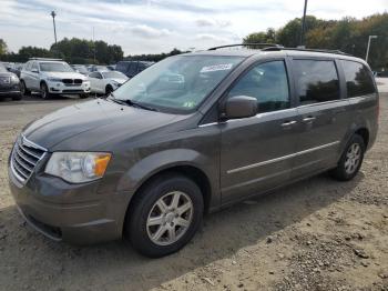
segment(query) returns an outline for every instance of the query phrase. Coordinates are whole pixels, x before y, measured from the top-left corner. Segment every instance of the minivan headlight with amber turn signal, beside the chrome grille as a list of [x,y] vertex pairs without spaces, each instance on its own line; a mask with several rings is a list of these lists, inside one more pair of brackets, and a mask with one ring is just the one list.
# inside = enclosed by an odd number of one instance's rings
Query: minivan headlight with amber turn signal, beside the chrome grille
[[44,172],[71,183],[83,183],[102,178],[110,160],[111,153],[106,152],[54,152]]

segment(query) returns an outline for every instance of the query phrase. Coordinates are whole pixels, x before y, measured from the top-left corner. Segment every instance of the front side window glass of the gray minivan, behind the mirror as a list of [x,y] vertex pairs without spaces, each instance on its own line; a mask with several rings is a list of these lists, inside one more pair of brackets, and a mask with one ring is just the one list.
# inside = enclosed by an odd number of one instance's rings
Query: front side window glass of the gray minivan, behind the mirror
[[258,112],[289,108],[288,78],[284,61],[261,63],[252,68],[229,91],[228,97],[234,96],[256,98]]

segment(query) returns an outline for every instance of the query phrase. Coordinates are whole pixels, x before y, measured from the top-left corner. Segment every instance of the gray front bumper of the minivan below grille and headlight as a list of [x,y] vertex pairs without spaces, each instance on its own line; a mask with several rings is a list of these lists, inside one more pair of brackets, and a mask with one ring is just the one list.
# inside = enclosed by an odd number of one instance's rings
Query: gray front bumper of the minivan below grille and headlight
[[10,167],[8,170],[9,185],[19,211],[45,237],[74,244],[122,237],[127,205],[125,194],[99,194],[98,182],[74,185],[44,174],[33,174],[22,184]]

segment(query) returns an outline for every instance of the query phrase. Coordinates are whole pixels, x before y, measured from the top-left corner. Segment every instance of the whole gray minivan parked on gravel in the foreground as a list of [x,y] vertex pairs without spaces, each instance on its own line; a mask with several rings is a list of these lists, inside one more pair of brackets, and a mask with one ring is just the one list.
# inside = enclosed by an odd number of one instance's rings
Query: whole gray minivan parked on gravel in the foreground
[[20,213],[53,240],[125,237],[162,257],[204,213],[324,171],[353,179],[377,128],[378,92],[358,58],[213,49],[30,123],[9,181]]

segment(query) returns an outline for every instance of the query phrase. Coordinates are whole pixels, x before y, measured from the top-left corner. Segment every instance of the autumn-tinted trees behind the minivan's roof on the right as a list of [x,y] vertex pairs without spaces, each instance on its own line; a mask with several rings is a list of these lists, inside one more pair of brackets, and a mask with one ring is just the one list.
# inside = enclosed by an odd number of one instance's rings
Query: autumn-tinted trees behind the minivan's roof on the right
[[[278,43],[295,48],[300,44],[302,19],[295,18],[283,28],[246,36],[244,43]],[[388,13],[374,14],[361,20],[344,18],[324,20],[306,17],[305,46],[308,49],[340,50],[365,59],[369,36],[371,40],[368,62],[374,70],[388,70]]]

